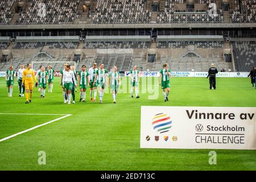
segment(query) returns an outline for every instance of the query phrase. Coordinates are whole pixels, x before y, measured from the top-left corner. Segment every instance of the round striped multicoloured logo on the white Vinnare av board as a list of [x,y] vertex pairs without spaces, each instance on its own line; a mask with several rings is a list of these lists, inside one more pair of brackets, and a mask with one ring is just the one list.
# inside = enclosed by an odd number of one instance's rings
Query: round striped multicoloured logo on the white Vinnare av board
[[172,127],[171,117],[167,114],[156,114],[152,119],[152,126],[156,133],[166,133]]

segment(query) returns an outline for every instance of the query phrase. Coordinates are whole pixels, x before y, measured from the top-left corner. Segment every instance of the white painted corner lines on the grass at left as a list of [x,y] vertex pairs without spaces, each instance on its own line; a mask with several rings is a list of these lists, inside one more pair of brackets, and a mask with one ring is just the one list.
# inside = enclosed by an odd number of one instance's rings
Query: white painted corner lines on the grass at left
[[[12,113],[0,113],[0,114],[12,114]],[[27,114],[27,115],[32,115],[32,114]],[[38,125],[38,126],[35,126],[35,127],[31,127],[31,129],[27,129],[27,130],[21,131],[21,132],[19,132],[19,133],[13,134],[13,135],[11,135],[11,136],[9,136],[9,137],[0,139],[0,142],[3,142],[3,141],[5,141],[5,140],[7,140],[7,139],[10,139],[10,138],[14,138],[14,137],[16,137],[16,136],[18,136],[18,135],[21,135],[21,134],[23,134],[23,133],[27,133],[28,131],[35,130],[35,129],[41,127],[41,126],[48,125],[48,124],[53,123],[53,122],[55,122],[55,121],[59,121],[60,119],[67,118],[67,117],[71,116],[72,114],[35,114],[35,115],[64,115],[64,116],[63,116],[63,117],[60,117],[60,118],[57,118],[57,119],[53,119],[52,121],[43,123],[42,125]]]

